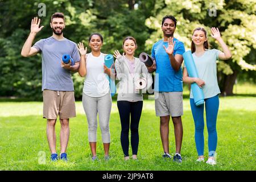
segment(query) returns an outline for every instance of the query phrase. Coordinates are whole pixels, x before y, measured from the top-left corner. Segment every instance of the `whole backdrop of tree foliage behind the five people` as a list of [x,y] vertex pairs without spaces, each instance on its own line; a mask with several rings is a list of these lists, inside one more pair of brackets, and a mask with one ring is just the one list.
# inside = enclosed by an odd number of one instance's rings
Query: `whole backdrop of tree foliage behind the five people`
[[[218,62],[219,78],[233,74],[238,78],[256,77],[255,66],[255,1],[224,0],[36,0],[0,1],[0,96],[18,96],[42,99],[42,65],[40,55],[24,58],[20,56],[22,46],[30,32],[31,19],[38,16],[39,3],[46,5],[46,16],[41,17],[42,31],[36,35],[35,42],[52,35],[49,20],[57,11],[65,14],[64,36],[73,42],[84,42],[88,47],[88,37],[92,32],[104,36],[102,52],[122,52],[123,38],[134,36],[141,52],[151,52],[152,44],[162,39],[160,23],[166,14],[177,18],[175,37],[190,48],[194,28],[203,26],[221,31],[222,38],[230,47],[231,60]],[[138,8],[133,9],[137,3]],[[17,6],[18,5],[18,6]],[[217,16],[209,16],[212,5],[217,8]],[[220,48],[209,37],[213,48]],[[90,50],[89,50],[90,51]],[[82,95],[84,78],[73,74],[76,98]],[[224,80],[220,80],[225,84]],[[223,87],[223,86],[221,86]]]

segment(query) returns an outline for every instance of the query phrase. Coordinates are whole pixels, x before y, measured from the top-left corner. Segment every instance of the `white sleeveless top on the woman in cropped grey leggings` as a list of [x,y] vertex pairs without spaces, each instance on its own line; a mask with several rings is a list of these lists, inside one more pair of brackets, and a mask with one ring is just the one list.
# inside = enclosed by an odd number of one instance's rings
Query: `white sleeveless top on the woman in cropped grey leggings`
[[104,73],[104,53],[98,57],[92,53],[87,55],[83,92],[90,97],[102,97],[109,93],[108,75]]

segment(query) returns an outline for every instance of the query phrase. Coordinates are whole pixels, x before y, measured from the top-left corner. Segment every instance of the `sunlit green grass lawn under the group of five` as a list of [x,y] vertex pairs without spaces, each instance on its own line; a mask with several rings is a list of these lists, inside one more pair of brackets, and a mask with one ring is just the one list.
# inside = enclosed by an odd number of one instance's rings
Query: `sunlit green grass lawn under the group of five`
[[[109,162],[98,129],[97,155],[92,162],[87,137],[87,122],[81,101],[76,102],[77,117],[71,119],[68,145],[69,161],[50,162],[46,138],[46,119],[42,118],[42,102],[0,102],[0,170],[255,170],[256,97],[220,97],[217,120],[217,165],[196,163],[197,152],[194,124],[188,98],[184,98],[183,163],[162,158],[159,118],[155,116],[154,101],[146,100],[139,125],[139,160],[123,160],[120,143],[121,125],[117,102],[113,101],[110,118]],[[60,123],[56,134],[59,139]],[[205,156],[208,155],[208,134],[205,127]],[[57,151],[59,152],[59,140]],[[131,150],[130,150],[131,151]],[[174,126],[170,123],[170,152],[175,152]],[[131,152],[130,152],[131,153]],[[42,163],[46,155],[46,163]]]

